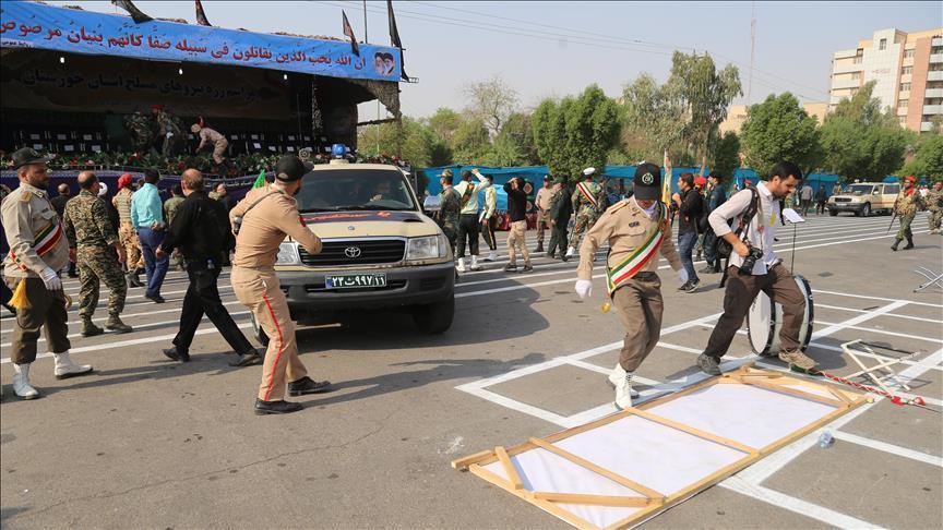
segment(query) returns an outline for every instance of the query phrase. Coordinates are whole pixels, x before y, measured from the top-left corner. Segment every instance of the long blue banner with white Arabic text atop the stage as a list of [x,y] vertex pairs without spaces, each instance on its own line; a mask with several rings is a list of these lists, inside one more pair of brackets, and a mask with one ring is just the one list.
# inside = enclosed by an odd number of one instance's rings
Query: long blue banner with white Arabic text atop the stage
[[[259,3],[260,9],[262,3]],[[311,7],[311,9],[315,9]],[[266,35],[56,8],[36,2],[0,4],[0,47],[40,48],[155,61],[265,68],[331,77],[397,81],[399,53],[387,46]]]

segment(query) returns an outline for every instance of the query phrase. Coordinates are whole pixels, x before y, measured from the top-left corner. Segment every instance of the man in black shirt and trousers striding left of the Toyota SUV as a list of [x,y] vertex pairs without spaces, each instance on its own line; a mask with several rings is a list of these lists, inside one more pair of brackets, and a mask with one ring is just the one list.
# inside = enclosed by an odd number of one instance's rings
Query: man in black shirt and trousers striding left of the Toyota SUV
[[190,344],[205,312],[239,356],[229,364],[248,366],[262,358],[232,322],[216,288],[219,269],[223,267],[223,255],[229,252],[234,242],[226,206],[203,192],[203,174],[200,171],[183,171],[180,183],[187,198],[177,209],[174,222],[156,253],[157,257],[162,258],[179,248],[183,254],[190,287],[183,298],[180,330],[174,337],[174,348],[164,350],[164,354],[175,361],[190,360]]

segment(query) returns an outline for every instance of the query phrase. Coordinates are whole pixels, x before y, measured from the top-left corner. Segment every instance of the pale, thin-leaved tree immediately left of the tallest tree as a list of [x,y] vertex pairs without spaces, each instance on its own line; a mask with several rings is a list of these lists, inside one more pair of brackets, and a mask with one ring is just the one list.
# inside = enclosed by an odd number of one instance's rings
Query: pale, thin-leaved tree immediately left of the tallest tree
[[[684,108],[668,86],[643,73],[622,92],[622,148],[637,160],[676,159],[684,134]],[[637,161],[636,160],[636,161]]]

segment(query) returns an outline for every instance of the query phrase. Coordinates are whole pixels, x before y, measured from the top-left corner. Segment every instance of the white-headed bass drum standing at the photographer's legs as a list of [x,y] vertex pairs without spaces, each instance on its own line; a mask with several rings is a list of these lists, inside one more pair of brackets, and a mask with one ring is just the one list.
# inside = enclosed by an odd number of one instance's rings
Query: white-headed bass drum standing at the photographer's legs
[[[812,302],[812,288],[809,281],[800,275],[792,277],[799,286],[799,292],[805,299],[805,312],[802,315],[802,326],[799,328],[799,347],[802,351],[809,347],[812,339],[812,324],[815,308]],[[775,305],[775,308],[773,308]],[[783,305],[773,304],[765,292],[760,292],[750,305],[747,314],[747,335],[750,347],[761,357],[779,354],[779,329],[783,327]]]

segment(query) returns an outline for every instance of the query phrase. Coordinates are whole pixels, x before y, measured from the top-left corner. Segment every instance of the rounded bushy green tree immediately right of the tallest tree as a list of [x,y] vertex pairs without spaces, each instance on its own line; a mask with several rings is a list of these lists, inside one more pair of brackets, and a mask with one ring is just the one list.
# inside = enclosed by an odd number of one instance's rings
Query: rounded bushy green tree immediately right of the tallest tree
[[769,95],[765,101],[747,109],[740,131],[740,146],[747,164],[765,176],[773,166],[789,160],[808,172],[822,159],[817,120],[786,92]]

